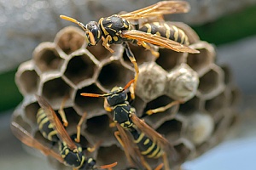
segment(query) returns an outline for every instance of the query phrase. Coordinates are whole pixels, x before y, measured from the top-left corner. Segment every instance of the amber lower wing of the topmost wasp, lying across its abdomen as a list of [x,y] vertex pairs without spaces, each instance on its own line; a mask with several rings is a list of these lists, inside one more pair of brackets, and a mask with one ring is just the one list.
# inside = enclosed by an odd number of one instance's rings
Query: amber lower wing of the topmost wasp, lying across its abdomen
[[158,45],[163,48],[169,48],[177,52],[197,54],[200,53],[194,48],[183,45],[179,42],[172,41],[166,37],[161,37],[155,34],[146,33],[143,31],[131,30],[123,31],[121,37],[128,39],[136,39],[138,42],[148,42],[154,45]]

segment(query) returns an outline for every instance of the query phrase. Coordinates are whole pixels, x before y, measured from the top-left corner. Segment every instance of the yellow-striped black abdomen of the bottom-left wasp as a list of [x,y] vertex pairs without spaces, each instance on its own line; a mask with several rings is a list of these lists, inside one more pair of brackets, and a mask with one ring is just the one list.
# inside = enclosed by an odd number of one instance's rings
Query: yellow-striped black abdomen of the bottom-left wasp
[[57,132],[53,129],[53,125],[49,122],[49,118],[46,116],[42,108],[38,109],[37,122],[38,129],[45,139],[49,139],[49,141],[53,142],[59,141]]

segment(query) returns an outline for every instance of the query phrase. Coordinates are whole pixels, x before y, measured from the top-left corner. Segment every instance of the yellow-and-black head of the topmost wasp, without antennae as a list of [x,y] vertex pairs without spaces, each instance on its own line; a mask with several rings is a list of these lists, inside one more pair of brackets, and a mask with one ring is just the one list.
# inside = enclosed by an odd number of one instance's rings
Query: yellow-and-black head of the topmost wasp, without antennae
[[90,21],[86,26],[86,41],[88,46],[94,46],[102,38],[102,33],[96,21]]

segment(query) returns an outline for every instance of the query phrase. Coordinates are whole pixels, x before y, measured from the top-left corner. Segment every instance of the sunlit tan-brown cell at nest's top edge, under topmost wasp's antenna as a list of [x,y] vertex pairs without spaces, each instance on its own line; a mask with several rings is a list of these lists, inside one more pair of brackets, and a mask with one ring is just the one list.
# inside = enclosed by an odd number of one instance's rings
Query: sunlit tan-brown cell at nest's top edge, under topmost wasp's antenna
[[54,41],[66,54],[82,48],[84,44],[84,31],[75,26],[67,26],[59,31]]

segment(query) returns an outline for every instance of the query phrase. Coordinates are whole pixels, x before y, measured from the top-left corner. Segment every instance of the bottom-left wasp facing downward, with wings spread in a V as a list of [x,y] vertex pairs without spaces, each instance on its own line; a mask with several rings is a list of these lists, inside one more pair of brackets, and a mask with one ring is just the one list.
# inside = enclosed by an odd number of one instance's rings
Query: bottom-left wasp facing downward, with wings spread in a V
[[[45,156],[52,156],[61,163],[73,167],[73,170],[78,169],[111,169],[116,166],[117,162],[114,162],[109,165],[104,165],[100,167],[95,167],[96,161],[89,157],[84,156],[84,149],[79,144],[80,137],[77,136],[75,139],[78,142],[73,142],[73,139],[68,135],[66,129],[63,127],[58,116],[56,116],[55,111],[49,105],[49,103],[41,96],[37,96],[38,103],[41,106],[38,112],[39,116],[43,119],[41,122],[42,128],[40,132],[43,132],[43,136],[46,135],[49,141],[58,142],[60,153],[56,153],[55,150],[51,150],[48,147],[41,144],[37,139],[34,139],[30,133],[28,133],[23,127],[20,127],[16,122],[11,123],[11,129],[15,136],[20,139],[20,141],[32,148],[41,150]],[[79,126],[82,124],[86,117],[86,114],[81,117]],[[38,119],[41,119],[38,117]],[[39,124],[40,126],[40,124]],[[47,128],[48,127],[48,128]],[[78,128],[79,129],[79,128]],[[79,135],[79,134],[78,134]],[[95,146],[96,147],[96,146]],[[87,148],[89,151],[94,151],[94,148]]]

